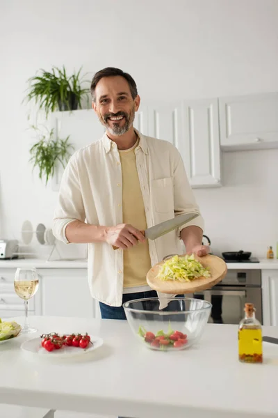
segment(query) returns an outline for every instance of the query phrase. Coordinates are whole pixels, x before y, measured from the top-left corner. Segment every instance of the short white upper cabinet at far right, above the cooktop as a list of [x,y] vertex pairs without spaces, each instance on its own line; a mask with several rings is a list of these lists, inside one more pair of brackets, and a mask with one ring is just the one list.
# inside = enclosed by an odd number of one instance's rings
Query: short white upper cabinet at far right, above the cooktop
[[219,115],[224,150],[278,147],[278,93],[220,98]]

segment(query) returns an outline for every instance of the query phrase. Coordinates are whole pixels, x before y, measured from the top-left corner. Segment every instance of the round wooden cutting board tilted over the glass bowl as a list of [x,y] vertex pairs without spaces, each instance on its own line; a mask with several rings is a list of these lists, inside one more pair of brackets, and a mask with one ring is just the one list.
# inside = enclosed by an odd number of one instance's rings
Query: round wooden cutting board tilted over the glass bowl
[[222,258],[207,255],[204,257],[195,256],[195,259],[202,263],[204,267],[209,268],[211,277],[199,277],[193,281],[184,282],[174,280],[162,281],[156,277],[160,266],[164,263],[164,261],[161,261],[161,263],[154,265],[147,273],[147,284],[154,289],[154,291],[171,295],[182,295],[183,293],[195,293],[197,291],[210,289],[226,276],[227,265]]

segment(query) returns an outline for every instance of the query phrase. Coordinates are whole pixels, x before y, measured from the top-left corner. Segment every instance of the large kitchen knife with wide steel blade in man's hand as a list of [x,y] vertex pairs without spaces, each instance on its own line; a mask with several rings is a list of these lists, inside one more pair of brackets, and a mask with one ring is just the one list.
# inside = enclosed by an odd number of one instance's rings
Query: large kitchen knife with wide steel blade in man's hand
[[[165,235],[165,233],[174,231],[174,229],[179,228],[179,226],[183,224],[187,224],[188,222],[195,219],[195,217],[197,216],[199,216],[199,213],[196,213],[196,212],[183,213],[183,215],[177,215],[172,219],[169,219],[167,221],[161,222],[160,224],[151,226],[151,228],[145,229],[145,231],[140,231],[140,232],[148,240],[156,240],[156,238],[159,238],[162,235]],[[118,247],[115,247],[113,245],[113,249],[117,249],[117,248]]]

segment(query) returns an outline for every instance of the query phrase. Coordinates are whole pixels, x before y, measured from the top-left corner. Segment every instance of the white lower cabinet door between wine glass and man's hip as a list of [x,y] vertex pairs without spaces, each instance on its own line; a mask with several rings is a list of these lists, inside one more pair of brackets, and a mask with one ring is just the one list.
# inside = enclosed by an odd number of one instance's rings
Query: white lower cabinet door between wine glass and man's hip
[[39,272],[42,315],[95,316],[86,269],[43,269]]

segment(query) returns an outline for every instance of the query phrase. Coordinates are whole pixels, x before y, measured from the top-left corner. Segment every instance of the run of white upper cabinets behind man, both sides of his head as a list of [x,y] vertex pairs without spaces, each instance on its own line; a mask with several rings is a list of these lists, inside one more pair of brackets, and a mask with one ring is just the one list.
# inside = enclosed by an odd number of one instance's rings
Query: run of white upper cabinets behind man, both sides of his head
[[[56,137],[70,135],[75,150],[98,141],[104,134],[92,110],[55,112],[50,127]],[[170,141],[177,147],[192,187],[220,186],[218,100],[190,100],[140,106],[134,127],[142,134]],[[58,190],[63,167],[57,167],[52,189]]]

